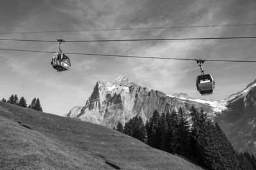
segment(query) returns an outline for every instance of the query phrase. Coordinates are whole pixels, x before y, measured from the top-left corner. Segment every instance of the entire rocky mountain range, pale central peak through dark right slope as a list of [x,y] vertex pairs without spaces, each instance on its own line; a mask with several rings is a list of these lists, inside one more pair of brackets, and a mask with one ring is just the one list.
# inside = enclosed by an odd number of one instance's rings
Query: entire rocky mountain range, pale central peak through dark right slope
[[256,80],[244,90],[221,101],[193,99],[187,94],[166,95],[158,90],[148,90],[119,76],[113,81],[98,81],[84,106],[76,106],[67,117],[76,117],[94,124],[115,127],[140,115],[145,122],[154,110],[166,113],[179,106],[189,113],[192,105],[205,112],[220,124],[228,139],[239,151],[256,153]]

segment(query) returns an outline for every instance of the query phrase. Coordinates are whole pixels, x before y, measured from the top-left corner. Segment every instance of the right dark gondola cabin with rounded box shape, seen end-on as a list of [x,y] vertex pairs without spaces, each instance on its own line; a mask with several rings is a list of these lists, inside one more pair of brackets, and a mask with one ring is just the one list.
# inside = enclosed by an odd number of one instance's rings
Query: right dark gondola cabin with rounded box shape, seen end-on
[[214,89],[214,80],[211,74],[204,74],[197,76],[196,78],[196,87],[198,92],[202,95],[212,94]]

